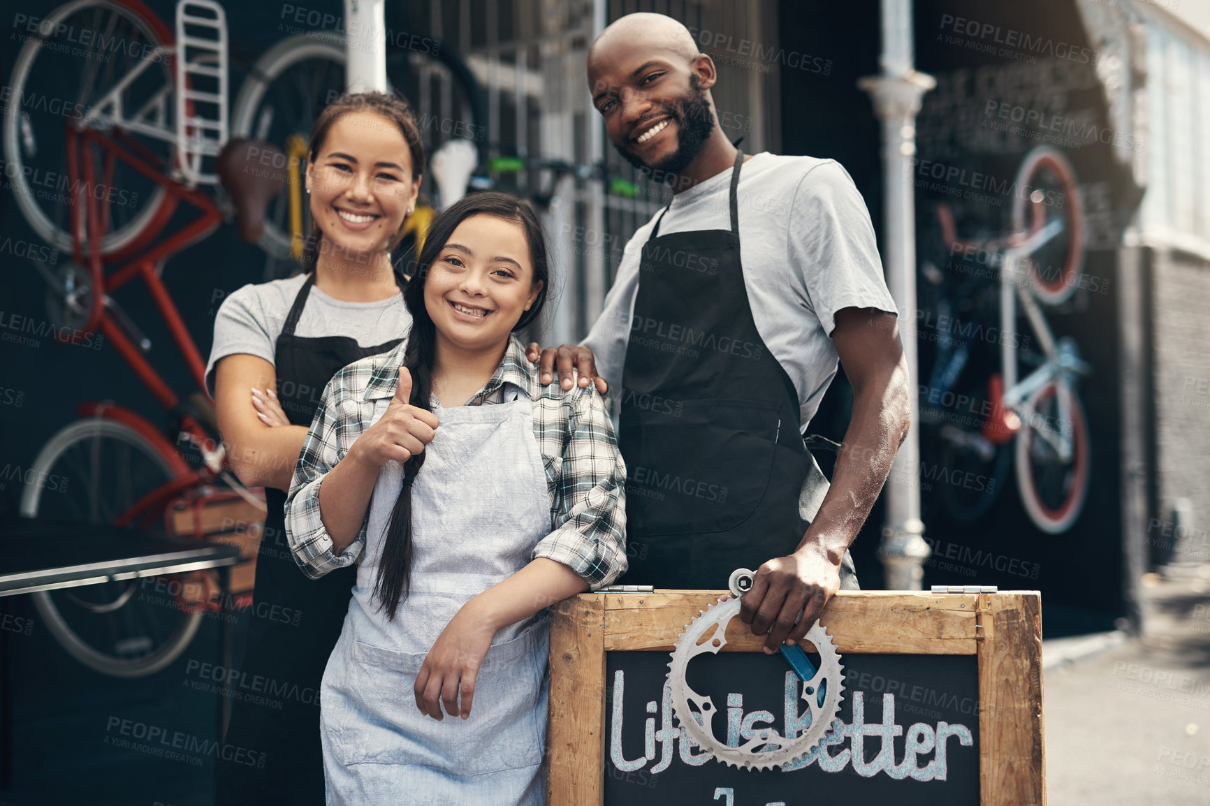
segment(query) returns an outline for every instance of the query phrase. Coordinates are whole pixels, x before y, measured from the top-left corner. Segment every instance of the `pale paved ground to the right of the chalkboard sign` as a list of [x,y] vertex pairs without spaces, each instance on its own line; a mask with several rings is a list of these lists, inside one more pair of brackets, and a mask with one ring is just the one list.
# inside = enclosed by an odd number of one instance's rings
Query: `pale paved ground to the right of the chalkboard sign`
[[1044,641],[1049,806],[1210,805],[1210,578],[1145,582],[1142,638]]

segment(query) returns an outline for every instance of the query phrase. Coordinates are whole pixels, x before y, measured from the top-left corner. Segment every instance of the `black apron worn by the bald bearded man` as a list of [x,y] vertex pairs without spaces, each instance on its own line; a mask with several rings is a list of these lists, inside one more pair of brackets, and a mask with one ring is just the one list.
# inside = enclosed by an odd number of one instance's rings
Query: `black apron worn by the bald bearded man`
[[[799,395],[756,330],[731,229],[659,235],[639,263],[622,370],[629,570],[620,582],[726,588],[737,568],[791,553],[828,479],[803,444]],[[790,293],[790,289],[784,289]],[[858,587],[848,552],[841,587]]]

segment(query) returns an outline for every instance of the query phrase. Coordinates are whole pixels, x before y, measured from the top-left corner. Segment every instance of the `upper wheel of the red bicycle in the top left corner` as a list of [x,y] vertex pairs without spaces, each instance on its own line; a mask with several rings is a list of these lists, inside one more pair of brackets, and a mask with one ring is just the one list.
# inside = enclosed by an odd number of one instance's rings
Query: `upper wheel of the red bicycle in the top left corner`
[[[5,174],[25,220],[60,252],[71,251],[73,198],[104,201],[108,226],[100,251],[115,253],[138,238],[157,214],[162,219],[171,211],[161,208],[174,202],[159,183],[110,157],[98,161],[94,175],[77,175],[73,186],[68,129],[79,127],[106,93],[138,69],[142,73],[120,93],[125,114],[154,106],[157,98],[171,108],[172,62],[156,48],[172,47],[172,34],[139,0],[76,0],[30,24],[38,33],[23,28],[16,34],[23,45],[4,105]],[[163,123],[168,125],[167,117]],[[100,120],[92,125],[108,127]],[[139,137],[137,143],[144,156],[162,166],[172,163],[171,143],[154,137]],[[86,205],[76,203],[81,232],[85,213]]]

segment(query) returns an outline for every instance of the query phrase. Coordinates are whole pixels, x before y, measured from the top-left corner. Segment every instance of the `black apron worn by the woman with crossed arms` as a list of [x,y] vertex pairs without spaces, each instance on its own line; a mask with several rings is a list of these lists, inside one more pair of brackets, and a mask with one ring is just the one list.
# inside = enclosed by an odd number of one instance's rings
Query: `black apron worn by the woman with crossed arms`
[[[324,386],[341,367],[402,341],[362,347],[350,336],[294,335],[313,284],[312,272],[294,298],[273,352],[282,410],[290,425],[304,427],[310,427]],[[219,755],[215,802],[323,806],[319,681],[340,638],[357,566],[318,580],[304,575],[286,540],[286,494],[266,488],[265,502],[269,512],[257,558],[254,603],[243,616],[249,621],[248,649],[240,683],[232,686],[241,697],[232,703],[224,741],[246,752],[232,752],[230,760]],[[273,704],[258,703],[258,697]],[[263,767],[248,762],[249,752],[264,754]]]

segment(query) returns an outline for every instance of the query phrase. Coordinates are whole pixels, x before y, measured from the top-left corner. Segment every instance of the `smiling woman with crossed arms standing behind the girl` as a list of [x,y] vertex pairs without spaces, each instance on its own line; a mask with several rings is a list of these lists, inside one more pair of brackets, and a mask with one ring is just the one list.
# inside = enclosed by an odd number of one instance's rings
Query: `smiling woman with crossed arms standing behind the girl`
[[286,542],[284,491],[328,380],[397,346],[410,327],[391,253],[424,166],[420,131],[402,98],[359,93],[329,104],[307,148],[315,229],[304,274],[240,288],[214,323],[207,384],[227,455],[244,484],[266,488],[255,601],[299,614],[298,623],[258,617],[269,608],[248,616],[241,673],[289,693],[280,708],[232,702],[225,741],[264,753],[264,766],[220,759],[219,804],[323,802],[318,690],[355,576],[350,569],[315,582],[299,572]]

